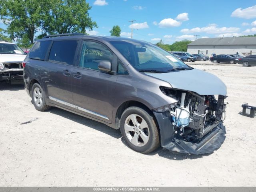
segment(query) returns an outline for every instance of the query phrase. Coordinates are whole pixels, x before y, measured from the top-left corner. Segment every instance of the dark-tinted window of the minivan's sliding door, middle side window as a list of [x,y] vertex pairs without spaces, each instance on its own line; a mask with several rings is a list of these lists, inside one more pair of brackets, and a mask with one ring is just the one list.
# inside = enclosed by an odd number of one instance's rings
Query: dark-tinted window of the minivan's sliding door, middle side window
[[48,60],[50,62],[72,65],[77,45],[78,41],[76,40],[53,42]]

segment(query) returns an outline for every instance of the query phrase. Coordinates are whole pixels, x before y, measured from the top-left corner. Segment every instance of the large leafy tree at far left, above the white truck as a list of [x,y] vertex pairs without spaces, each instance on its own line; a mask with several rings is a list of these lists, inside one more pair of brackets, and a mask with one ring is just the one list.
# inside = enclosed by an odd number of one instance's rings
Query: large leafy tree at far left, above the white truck
[[[24,38],[27,43],[34,43],[34,34],[49,12],[50,0],[1,0],[0,15],[6,32],[12,40]],[[24,41],[22,40],[22,41]]]

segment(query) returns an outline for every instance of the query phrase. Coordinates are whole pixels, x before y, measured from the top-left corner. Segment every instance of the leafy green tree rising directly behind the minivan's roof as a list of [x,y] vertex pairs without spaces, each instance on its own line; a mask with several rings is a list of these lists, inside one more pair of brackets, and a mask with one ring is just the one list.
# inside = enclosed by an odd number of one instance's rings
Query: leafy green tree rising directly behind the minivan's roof
[[89,17],[91,7],[85,0],[54,0],[45,15],[42,29],[47,34],[86,33],[97,27]]

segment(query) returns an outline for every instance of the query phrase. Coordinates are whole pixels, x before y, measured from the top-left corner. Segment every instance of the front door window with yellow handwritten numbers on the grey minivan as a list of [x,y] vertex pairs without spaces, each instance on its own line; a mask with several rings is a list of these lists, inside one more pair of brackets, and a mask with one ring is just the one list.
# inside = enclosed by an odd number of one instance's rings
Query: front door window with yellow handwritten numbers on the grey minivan
[[84,67],[93,70],[98,69],[100,61],[112,62],[113,54],[108,48],[94,41],[84,41],[80,56],[79,67]]

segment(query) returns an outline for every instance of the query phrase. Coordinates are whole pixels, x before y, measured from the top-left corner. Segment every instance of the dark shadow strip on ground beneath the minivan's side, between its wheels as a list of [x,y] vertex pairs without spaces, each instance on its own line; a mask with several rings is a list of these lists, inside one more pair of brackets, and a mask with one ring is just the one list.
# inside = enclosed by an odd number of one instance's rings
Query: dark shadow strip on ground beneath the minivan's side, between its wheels
[[53,113],[53,114],[56,114],[56,115],[59,115],[59,116],[62,116],[64,118],[68,118],[68,119],[70,119],[74,122],[77,122],[77,123],[82,124],[84,126],[88,126],[88,127],[93,128],[97,131],[101,131],[101,132],[103,132],[105,134],[108,134],[109,136],[112,136],[116,139],[119,139],[119,138],[122,137],[120,130],[113,129],[113,128],[111,128],[111,127],[109,127],[109,126],[107,126],[103,123],[100,123],[100,122],[91,120],[89,118],[74,114],[72,112],[68,112],[66,110],[62,110],[62,109],[57,108],[57,107],[52,107],[49,110],[49,112]]

